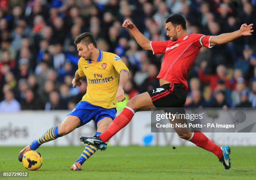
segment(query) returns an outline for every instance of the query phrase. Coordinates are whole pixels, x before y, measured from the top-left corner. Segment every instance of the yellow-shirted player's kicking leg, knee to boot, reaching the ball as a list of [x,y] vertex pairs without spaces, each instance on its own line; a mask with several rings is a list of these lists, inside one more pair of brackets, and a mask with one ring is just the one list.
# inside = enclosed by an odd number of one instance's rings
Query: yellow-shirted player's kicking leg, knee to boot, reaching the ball
[[41,135],[40,138],[34,140],[28,146],[23,148],[18,156],[18,160],[22,162],[23,155],[30,150],[36,150],[43,143],[49,142],[51,140],[55,140],[63,135],[67,135],[72,132],[75,128],[77,128],[80,124],[79,117],[69,115],[66,119],[61,122],[58,126],[54,126],[46,130],[46,132]]

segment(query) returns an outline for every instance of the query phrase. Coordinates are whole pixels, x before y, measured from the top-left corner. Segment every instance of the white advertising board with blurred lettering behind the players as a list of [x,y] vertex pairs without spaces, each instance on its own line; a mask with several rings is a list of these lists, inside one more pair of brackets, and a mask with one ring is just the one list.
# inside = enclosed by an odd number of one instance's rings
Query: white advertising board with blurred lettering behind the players
[[[0,146],[28,145],[47,129],[58,125],[67,111],[23,111],[0,113]],[[69,135],[45,145],[82,145],[80,136],[92,136],[96,132],[94,122],[77,128]],[[205,133],[218,145],[256,145],[256,133]],[[109,145],[193,145],[182,140],[176,133],[151,133],[151,112],[136,112],[133,120],[111,138]]]

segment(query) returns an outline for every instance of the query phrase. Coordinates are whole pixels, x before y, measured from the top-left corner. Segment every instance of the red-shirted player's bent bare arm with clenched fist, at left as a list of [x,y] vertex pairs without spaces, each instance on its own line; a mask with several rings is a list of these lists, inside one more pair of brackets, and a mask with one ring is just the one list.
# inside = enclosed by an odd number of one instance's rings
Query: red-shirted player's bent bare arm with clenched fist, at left
[[131,30],[131,33],[133,34],[135,40],[138,42],[138,44],[144,49],[144,50],[151,50],[150,46],[150,40],[146,38],[136,27],[136,25],[133,24],[133,22],[129,19],[125,20],[123,22],[123,28],[128,28]]

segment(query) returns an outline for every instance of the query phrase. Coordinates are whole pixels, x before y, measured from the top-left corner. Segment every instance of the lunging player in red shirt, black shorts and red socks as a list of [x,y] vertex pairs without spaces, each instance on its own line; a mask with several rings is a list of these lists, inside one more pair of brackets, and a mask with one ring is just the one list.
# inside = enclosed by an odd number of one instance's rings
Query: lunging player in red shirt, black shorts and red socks
[[[84,143],[97,145],[101,150],[106,149],[106,142],[127,125],[138,110],[148,110],[155,107],[184,107],[187,96],[187,71],[194,62],[201,47],[213,47],[230,42],[241,36],[252,35],[253,24],[241,25],[237,31],[217,36],[202,34],[187,34],[186,21],[182,15],[174,14],[166,20],[166,35],[170,40],[150,41],[131,22],[125,20],[123,28],[131,30],[138,44],[145,50],[152,50],[153,54],[163,54],[164,60],[157,78],[160,87],[133,97],[126,107],[111,123],[108,129],[99,136],[91,138],[81,137]],[[230,148],[219,147],[201,132],[178,132],[180,138],[189,140],[195,145],[214,153],[224,165],[230,168]]]

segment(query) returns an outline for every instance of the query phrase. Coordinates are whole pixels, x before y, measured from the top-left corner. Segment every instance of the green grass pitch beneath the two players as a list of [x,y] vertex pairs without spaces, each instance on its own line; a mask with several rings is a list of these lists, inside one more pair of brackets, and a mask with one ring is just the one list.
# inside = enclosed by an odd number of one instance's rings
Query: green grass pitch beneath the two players
[[47,147],[38,149],[44,158],[42,167],[28,171],[18,161],[22,147],[0,147],[0,171],[26,171],[34,180],[255,180],[256,147],[231,147],[231,169],[210,152],[197,147],[108,147],[96,152],[82,166],[82,171],[70,171],[70,166],[83,147]]

